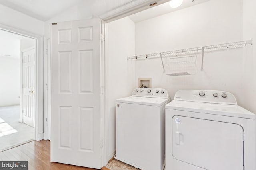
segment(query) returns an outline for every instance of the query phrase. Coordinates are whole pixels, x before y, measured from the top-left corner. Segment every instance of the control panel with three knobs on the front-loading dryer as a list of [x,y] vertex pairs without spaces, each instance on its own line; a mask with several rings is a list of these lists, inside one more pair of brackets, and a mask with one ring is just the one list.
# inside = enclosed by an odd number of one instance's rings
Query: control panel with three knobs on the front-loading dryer
[[237,105],[232,93],[218,90],[180,90],[174,100]]

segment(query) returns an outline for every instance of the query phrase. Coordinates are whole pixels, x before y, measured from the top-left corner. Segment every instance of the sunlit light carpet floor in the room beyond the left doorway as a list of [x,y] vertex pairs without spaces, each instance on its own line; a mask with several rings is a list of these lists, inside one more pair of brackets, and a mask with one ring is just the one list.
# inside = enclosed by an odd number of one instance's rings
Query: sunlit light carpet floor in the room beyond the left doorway
[[19,105],[0,107],[0,151],[34,139],[34,128],[20,123],[19,117]]

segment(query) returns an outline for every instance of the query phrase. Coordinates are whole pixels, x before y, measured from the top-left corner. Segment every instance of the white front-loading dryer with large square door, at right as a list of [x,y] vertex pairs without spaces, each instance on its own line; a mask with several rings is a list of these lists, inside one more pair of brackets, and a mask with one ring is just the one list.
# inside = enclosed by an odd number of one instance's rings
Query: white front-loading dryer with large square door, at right
[[231,93],[180,90],[166,105],[166,170],[255,170],[255,131]]

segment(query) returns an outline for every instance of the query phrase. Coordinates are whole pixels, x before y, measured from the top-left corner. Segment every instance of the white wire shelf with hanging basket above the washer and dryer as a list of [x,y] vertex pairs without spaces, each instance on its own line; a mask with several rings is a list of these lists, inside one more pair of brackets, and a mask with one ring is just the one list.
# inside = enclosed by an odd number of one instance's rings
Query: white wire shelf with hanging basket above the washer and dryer
[[163,59],[165,59],[167,75],[171,75],[171,76],[190,75],[190,74],[195,74],[196,58],[199,53],[202,53],[201,70],[203,70],[204,53],[212,52],[212,51],[227,50],[227,49],[242,48],[248,44],[252,45],[252,40],[167,51],[162,53],[130,56],[130,57],[127,57],[127,59],[128,60],[129,59],[145,60],[145,59],[161,58],[164,73],[166,72],[166,70],[165,70]]

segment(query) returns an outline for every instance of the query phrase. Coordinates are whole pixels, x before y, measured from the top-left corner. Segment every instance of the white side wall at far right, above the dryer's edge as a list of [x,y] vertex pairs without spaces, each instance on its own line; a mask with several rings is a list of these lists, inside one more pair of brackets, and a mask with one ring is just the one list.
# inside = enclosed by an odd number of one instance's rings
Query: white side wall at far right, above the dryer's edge
[[243,39],[253,39],[253,46],[244,49],[243,96],[244,107],[256,113],[256,1],[243,0]]

